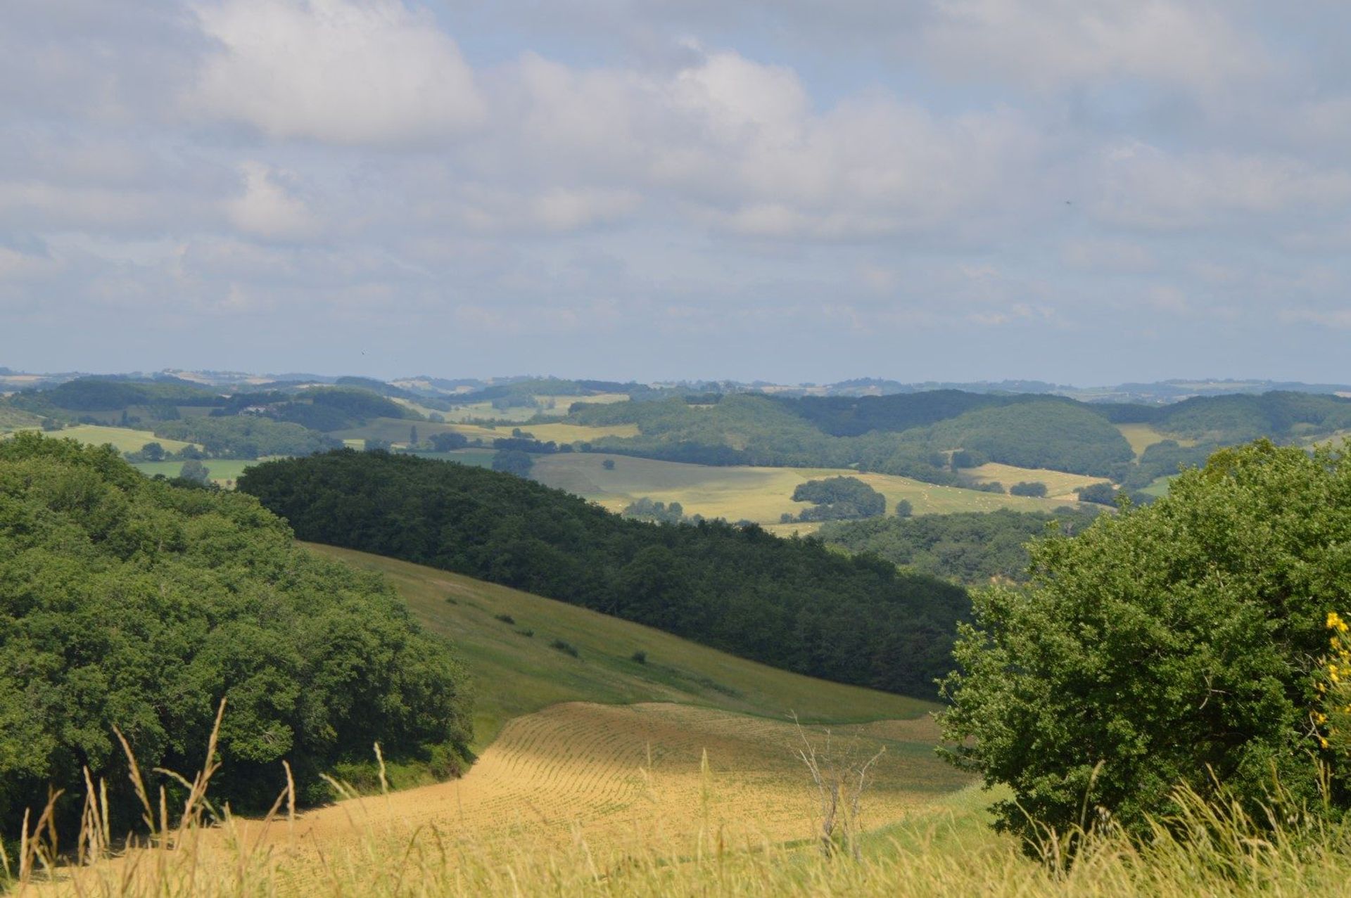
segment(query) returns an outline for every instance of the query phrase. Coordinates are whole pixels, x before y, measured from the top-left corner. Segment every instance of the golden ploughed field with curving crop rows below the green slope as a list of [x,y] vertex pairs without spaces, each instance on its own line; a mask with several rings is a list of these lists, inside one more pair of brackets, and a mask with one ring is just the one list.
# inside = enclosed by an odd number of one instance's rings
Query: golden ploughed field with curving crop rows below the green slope
[[[802,735],[825,744],[821,727]],[[796,755],[802,735],[786,718],[713,708],[567,702],[509,721],[461,779],[322,808],[303,814],[296,833],[331,847],[397,821],[478,843],[565,844],[577,830],[593,845],[634,832],[684,841],[708,826],[738,840],[809,839],[820,809]],[[934,755],[927,718],[836,727],[830,737],[863,759],[885,749],[865,793],[869,826],[970,783]]]

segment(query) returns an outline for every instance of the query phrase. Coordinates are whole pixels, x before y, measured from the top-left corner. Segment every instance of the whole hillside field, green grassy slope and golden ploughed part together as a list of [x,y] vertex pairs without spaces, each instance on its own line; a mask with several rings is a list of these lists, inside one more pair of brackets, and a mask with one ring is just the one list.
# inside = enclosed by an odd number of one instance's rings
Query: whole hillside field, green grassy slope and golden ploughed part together
[[[351,802],[303,814],[301,843],[328,847],[390,821],[485,841],[566,841],[574,825],[592,844],[635,832],[678,840],[700,826],[804,839],[816,794],[793,754],[794,710],[812,739],[824,739],[830,724],[832,739],[857,752],[886,749],[865,805],[867,826],[971,782],[934,754],[932,702],[780,671],[458,574],[305,546],[378,570],[427,629],[453,640],[476,681],[480,758],[458,781],[363,799],[359,814]],[[577,656],[551,648],[555,639]],[[646,663],[631,658],[635,650],[647,652]]]

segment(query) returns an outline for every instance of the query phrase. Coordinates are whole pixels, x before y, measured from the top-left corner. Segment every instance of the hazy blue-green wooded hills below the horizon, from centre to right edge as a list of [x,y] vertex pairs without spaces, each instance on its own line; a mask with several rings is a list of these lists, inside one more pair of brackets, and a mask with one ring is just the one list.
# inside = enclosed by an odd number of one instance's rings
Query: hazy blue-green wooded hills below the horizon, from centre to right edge
[[[894,396],[709,394],[576,406],[578,424],[635,424],[636,438],[594,447],[673,462],[848,467],[970,486],[963,458],[1106,477],[1135,489],[1178,463],[1202,463],[1254,436],[1298,442],[1351,428],[1351,400],[1312,393],[1198,397],[1165,406],[1089,404],[1055,396],[931,390]],[[1115,427],[1144,423],[1197,440],[1136,465]],[[954,450],[963,450],[954,458]]]

